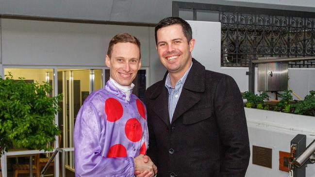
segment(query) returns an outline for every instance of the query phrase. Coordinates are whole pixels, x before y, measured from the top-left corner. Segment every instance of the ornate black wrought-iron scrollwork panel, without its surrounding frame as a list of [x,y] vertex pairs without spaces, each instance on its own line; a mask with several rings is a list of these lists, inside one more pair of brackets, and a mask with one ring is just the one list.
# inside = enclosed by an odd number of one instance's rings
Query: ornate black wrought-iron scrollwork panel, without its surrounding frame
[[[221,65],[248,66],[257,57],[315,56],[315,18],[220,12]],[[314,67],[315,61],[291,62]]]

